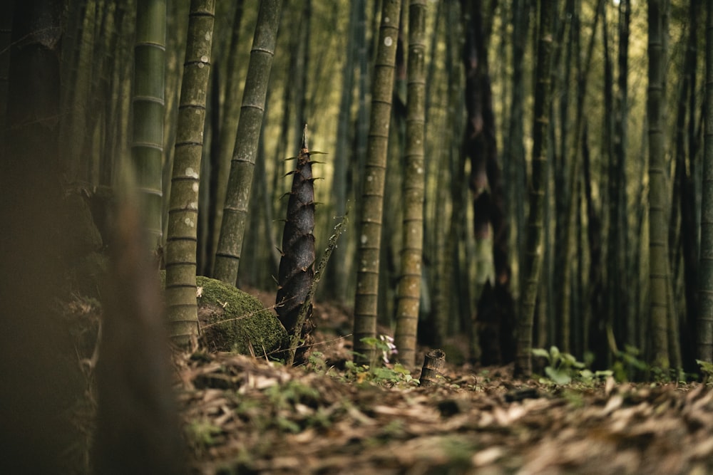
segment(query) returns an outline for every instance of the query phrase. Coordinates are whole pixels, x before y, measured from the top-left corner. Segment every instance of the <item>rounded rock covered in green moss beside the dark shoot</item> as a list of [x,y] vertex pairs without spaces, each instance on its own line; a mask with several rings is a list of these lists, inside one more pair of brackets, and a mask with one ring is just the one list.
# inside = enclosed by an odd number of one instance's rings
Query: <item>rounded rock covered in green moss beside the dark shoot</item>
[[[165,271],[161,283],[165,284]],[[254,296],[214,278],[198,276],[196,285],[200,342],[208,350],[269,355],[287,341],[277,315]]]

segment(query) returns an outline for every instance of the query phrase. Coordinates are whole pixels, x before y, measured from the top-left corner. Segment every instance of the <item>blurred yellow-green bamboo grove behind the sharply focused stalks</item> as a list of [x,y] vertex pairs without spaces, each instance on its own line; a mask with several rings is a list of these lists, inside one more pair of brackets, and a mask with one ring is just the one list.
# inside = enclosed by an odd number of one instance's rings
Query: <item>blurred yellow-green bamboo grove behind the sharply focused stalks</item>
[[[551,11],[543,14],[545,3]],[[515,358],[513,332],[528,283],[536,58],[548,19],[551,68],[544,73],[551,101],[543,109],[548,147],[537,175],[543,234],[537,298],[530,299],[531,344],[557,345],[580,359],[589,353],[597,367],[639,352],[663,368],[695,370],[704,284],[699,229],[709,3],[426,2],[419,340],[443,345],[454,335],[473,335],[474,360]],[[215,4],[200,165],[199,275],[210,276],[214,266],[258,4]],[[3,108],[11,5],[0,6]],[[164,216],[178,153],[189,2],[169,0],[165,8],[165,50],[159,48],[158,56],[165,61],[158,131]],[[141,54],[135,40],[143,34],[136,12],[131,0],[63,2],[58,130],[61,176],[69,187],[111,188],[120,164],[137,153],[132,135],[144,129],[131,119],[143,107],[132,100],[139,87],[132,83],[134,58]],[[282,1],[238,286],[275,290],[287,207],[281,197],[293,166],[284,159],[299,151],[307,123],[310,148],[328,154],[314,166],[323,178],[315,183],[317,254],[334,233],[335,217],[351,209],[319,299],[354,306],[380,12],[379,0]],[[403,1],[379,259],[378,320],[388,328],[394,328],[398,307],[407,196],[408,16],[409,1]],[[158,241],[165,234],[157,230]]]

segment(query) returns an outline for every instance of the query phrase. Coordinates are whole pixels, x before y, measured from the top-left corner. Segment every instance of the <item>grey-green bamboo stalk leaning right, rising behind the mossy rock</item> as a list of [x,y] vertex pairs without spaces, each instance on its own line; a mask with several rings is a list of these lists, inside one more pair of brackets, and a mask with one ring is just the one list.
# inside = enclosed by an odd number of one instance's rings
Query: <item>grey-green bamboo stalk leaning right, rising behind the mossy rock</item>
[[238,122],[235,149],[230,162],[230,177],[213,270],[215,278],[230,285],[235,285],[240,266],[242,240],[250,205],[252,172],[255,169],[257,144],[260,141],[262,116],[265,114],[265,97],[267,84],[270,82],[272,58],[275,56],[281,9],[282,0],[260,2],[255,24],[255,38],[250,51],[250,64],[247,66],[240,122]]

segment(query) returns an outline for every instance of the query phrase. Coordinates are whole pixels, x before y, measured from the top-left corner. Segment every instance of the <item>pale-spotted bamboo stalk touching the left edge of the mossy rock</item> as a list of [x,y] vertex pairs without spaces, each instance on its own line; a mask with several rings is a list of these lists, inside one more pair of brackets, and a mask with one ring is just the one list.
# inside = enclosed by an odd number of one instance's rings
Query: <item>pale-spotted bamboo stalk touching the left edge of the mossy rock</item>
[[198,172],[203,147],[214,12],[215,0],[190,2],[165,247],[169,334],[178,345],[187,345],[192,335],[198,335],[195,293]]

